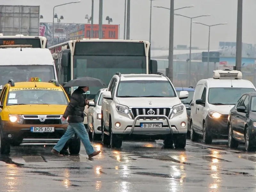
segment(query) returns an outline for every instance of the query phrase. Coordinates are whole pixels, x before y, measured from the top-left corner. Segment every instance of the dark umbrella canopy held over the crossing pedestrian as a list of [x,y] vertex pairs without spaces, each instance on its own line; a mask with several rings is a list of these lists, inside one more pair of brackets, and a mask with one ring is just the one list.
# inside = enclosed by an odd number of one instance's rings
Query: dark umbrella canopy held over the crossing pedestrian
[[81,77],[70,80],[64,87],[105,87],[105,84],[100,79]]

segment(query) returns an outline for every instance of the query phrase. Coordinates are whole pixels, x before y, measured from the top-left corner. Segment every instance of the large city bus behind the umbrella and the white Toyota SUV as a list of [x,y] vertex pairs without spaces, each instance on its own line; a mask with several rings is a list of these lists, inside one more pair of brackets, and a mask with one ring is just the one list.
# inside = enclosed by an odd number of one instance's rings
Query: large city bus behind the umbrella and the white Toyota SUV
[[[150,60],[150,43],[139,40],[82,39],[49,47],[55,60],[57,78],[63,84],[90,76],[108,85],[116,72],[123,74],[156,74],[157,62]],[[94,99],[102,87],[90,87],[88,100]],[[70,96],[76,87],[67,91]],[[87,111],[85,111],[87,115]],[[85,117],[87,124],[87,117]]]

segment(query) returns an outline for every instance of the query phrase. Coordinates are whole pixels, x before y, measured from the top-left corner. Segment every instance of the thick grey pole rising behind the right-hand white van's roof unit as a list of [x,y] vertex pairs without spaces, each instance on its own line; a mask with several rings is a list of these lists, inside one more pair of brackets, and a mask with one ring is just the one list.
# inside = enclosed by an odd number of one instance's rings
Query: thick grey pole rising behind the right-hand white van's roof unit
[[237,0],[236,70],[242,71],[243,0]]

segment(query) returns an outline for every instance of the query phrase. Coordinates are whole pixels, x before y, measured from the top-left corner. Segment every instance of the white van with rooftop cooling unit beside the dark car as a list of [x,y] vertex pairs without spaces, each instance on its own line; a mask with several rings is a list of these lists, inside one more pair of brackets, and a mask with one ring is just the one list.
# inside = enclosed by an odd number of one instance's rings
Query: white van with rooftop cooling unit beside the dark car
[[213,78],[196,84],[191,102],[190,137],[197,141],[203,135],[204,143],[228,137],[228,113],[246,92],[255,92],[252,82],[242,79],[236,70],[215,70]]

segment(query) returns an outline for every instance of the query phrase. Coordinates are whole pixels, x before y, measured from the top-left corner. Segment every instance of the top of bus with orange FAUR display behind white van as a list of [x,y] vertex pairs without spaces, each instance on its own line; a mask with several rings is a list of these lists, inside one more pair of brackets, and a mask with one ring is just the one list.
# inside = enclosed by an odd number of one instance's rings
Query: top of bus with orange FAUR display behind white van
[[47,39],[43,36],[4,36],[0,33],[0,48],[17,47],[17,45],[29,45],[32,48],[47,48]]

